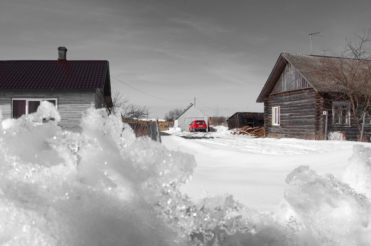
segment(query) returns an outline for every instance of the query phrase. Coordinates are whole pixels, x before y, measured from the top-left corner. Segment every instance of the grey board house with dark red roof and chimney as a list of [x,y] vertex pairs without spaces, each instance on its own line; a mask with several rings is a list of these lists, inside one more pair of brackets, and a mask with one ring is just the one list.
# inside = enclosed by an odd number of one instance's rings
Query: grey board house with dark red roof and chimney
[[86,109],[112,107],[108,61],[67,60],[66,53],[58,47],[58,60],[0,60],[3,119],[31,114],[49,101],[62,129],[80,131]]

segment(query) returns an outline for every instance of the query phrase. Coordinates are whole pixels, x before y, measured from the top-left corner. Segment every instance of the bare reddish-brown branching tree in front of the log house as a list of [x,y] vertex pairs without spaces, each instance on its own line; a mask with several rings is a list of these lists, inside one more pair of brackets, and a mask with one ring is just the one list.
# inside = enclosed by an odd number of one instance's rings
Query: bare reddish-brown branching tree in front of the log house
[[341,56],[333,53],[334,57],[321,58],[321,66],[316,72],[328,82],[327,91],[332,100],[349,104],[348,117],[361,130],[363,115],[371,115],[371,51],[368,46],[371,28],[368,32],[365,30],[363,35],[355,36],[354,41],[345,39]]

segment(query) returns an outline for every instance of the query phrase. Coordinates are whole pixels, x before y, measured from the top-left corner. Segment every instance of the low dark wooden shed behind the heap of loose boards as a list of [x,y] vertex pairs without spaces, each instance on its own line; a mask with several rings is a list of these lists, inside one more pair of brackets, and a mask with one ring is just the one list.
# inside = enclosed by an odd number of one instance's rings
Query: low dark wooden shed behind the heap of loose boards
[[237,112],[227,119],[228,129],[264,126],[264,113]]

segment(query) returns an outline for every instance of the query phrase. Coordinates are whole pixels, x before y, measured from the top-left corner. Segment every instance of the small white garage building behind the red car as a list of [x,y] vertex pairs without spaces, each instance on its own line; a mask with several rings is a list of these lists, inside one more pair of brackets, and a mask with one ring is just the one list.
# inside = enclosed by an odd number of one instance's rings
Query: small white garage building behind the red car
[[180,127],[183,131],[189,132],[189,125],[192,121],[204,120],[207,124],[207,131],[210,131],[209,117],[193,104],[190,104],[180,115],[174,118],[174,127]]

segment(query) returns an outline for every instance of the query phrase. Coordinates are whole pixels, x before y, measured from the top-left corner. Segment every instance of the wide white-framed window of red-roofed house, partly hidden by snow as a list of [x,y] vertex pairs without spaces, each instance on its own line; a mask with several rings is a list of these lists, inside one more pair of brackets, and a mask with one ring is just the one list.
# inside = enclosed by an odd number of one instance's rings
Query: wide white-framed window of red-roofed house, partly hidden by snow
[[12,118],[36,112],[42,101],[49,101],[58,108],[58,98],[12,98]]

